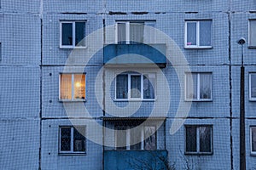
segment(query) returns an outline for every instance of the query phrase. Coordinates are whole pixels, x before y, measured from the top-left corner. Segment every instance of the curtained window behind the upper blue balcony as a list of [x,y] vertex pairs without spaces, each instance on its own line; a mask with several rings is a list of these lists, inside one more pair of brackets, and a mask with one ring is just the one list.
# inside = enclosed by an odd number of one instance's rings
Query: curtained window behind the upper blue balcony
[[118,21],[116,42],[118,43],[143,43],[154,42],[154,31],[145,29],[153,26],[154,21]]

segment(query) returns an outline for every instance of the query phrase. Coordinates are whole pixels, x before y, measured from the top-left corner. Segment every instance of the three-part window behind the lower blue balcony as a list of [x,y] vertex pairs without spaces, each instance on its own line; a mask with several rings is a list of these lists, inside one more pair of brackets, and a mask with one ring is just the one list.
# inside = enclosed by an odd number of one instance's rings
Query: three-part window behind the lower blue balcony
[[154,126],[141,127],[140,130],[128,126],[115,126],[115,129],[116,150],[156,150]]

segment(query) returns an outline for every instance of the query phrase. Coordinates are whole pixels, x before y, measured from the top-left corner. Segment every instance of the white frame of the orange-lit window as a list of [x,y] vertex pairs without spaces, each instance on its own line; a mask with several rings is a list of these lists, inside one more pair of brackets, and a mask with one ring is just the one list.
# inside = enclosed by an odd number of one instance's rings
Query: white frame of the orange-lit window
[[[61,99],[61,75],[62,74],[69,74],[69,75],[72,75],[72,78],[71,78],[71,81],[72,81],[72,99]],[[85,87],[84,87],[84,99],[75,99],[74,98],[74,75],[76,74],[79,74],[79,75],[84,75],[84,84],[85,84]],[[60,73],[59,74],[59,100],[60,101],[86,101],[86,73]]]

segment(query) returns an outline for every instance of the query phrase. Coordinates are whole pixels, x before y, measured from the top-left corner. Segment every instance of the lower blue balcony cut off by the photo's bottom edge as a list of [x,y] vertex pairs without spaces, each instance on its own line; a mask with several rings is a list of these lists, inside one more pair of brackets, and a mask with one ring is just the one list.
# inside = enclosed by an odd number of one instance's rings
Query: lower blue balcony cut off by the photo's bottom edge
[[104,150],[104,170],[167,169],[166,150]]

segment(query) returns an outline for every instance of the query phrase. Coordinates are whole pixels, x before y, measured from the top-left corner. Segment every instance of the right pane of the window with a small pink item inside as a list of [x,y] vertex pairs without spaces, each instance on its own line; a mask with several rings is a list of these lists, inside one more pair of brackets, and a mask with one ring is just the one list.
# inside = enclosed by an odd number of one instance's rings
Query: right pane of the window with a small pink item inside
[[212,21],[200,21],[200,46],[211,46]]

